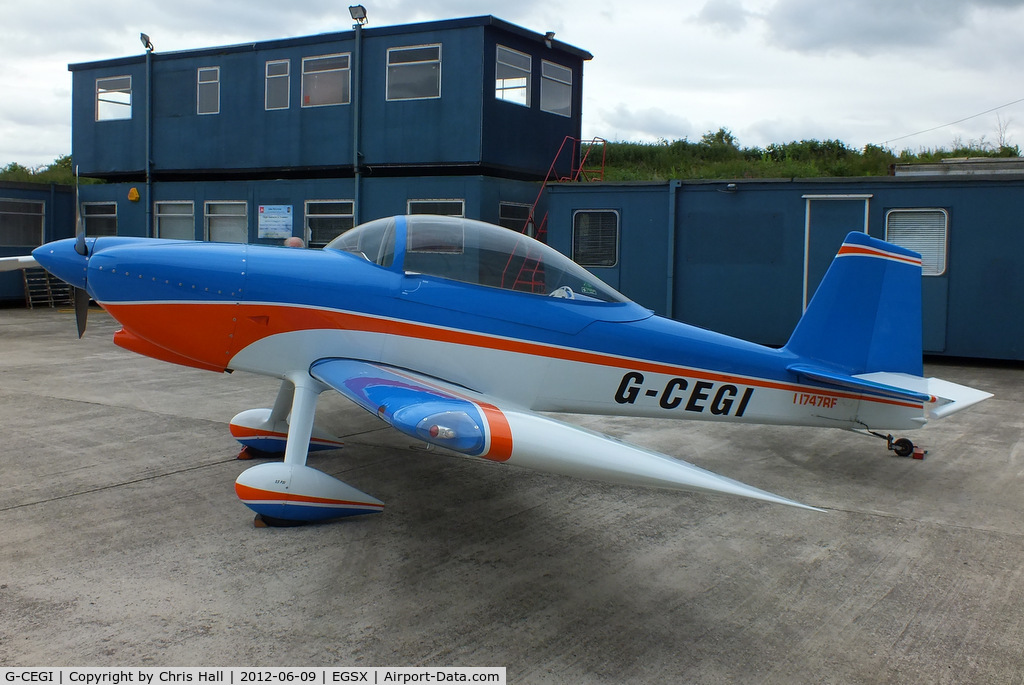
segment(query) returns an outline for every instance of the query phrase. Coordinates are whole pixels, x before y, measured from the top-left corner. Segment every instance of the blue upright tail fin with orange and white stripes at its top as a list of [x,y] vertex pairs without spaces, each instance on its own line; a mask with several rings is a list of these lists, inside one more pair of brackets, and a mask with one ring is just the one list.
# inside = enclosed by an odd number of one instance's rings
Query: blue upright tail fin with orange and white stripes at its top
[[844,373],[921,376],[921,255],[846,237],[785,349]]

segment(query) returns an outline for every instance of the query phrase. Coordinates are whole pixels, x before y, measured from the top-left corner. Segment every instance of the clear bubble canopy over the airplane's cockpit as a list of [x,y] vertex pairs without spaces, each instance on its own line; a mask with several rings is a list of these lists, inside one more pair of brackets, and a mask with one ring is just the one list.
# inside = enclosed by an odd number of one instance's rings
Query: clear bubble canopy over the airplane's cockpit
[[571,259],[523,233],[452,216],[416,214],[376,219],[324,248],[360,255],[407,273],[599,302],[629,302]]

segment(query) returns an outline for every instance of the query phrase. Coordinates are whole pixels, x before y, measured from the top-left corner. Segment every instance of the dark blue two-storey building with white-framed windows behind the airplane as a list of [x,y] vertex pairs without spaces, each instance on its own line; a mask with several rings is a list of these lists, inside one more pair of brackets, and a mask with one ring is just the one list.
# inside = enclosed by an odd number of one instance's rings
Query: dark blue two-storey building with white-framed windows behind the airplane
[[72,65],[75,164],[106,181],[82,188],[86,232],[316,246],[418,212],[521,229],[580,137],[590,58],[478,16]]

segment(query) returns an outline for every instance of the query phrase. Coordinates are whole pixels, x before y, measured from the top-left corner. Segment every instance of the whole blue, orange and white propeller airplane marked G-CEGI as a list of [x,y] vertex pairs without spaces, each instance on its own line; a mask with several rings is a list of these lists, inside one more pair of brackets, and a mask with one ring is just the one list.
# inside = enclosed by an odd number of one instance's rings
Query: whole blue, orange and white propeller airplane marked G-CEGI
[[230,424],[284,454],[236,482],[270,524],[383,507],[306,466],[341,444],[314,420],[329,389],[464,455],[799,507],[542,413],[844,428],[908,456],[888,431],[990,396],[922,377],[921,258],[864,233],[847,237],[781,349],[653,315],[546,245],[453,217],[370,221],[323,250],[80,234],[33,256],[80,289],[80,314],[91,296],[121,323],[121,347],[282,380],[272,408]]

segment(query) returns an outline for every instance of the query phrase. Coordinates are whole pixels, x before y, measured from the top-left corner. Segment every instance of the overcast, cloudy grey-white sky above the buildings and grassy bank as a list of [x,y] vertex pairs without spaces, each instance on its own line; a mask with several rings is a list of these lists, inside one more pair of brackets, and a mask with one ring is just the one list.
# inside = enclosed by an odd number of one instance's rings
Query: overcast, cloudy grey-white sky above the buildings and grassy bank
[[[161,52],[345,31],[348,4],[0,0],[0,167],[71,153],[69,63],[141,54],[139,32]],[[493,14],[590,51],[587,138],[1024,146],[1024,0],[362,4],[370,28]]]

